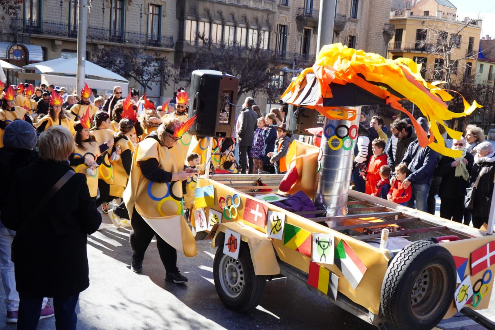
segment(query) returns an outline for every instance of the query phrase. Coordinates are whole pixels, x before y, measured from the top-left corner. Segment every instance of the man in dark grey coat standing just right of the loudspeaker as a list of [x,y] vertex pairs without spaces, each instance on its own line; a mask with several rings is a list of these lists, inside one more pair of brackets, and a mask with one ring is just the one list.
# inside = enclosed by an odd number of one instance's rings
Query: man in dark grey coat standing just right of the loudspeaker
[[256,130],[256,121],[258,120],[258,115],[251,106],[256,104],[254,99],[250,96],[246,97],[244,101],[244,108],[239,115],[239,130],[237,131],[238,142],[239,142],[239,153],[241,158],[241,173],[246,174],[247,162],[249,158],[249,174],[252,174],[252,169],[254,167],[254,161],[251,157],[251,146],[254,140],[254,131]]

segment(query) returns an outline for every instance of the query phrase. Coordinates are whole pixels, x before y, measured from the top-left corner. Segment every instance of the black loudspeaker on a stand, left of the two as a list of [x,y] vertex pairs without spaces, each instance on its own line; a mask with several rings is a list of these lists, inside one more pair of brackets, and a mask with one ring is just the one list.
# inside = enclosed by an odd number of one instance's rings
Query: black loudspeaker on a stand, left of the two
[[189,132],[230,137],[234,130],[239,80],[225,72],[196,70],[191,77],[189,118],[198,116]]

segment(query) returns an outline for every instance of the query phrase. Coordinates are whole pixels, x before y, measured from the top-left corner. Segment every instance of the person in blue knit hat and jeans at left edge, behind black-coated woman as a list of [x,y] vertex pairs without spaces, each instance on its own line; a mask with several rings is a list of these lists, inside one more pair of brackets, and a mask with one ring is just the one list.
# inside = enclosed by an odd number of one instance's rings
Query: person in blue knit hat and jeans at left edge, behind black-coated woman
[[[36,131],[33,125],[16,120],[5,127],[3,134],[4,147],[0,152],[0,171],[3,173],[4,187],[10,188],[14,172],[20,167],[33,164],[38,160],[38,153],[33,150],[37,142]],[[0,189],[0,209],[10,189]],[[1,214],[0,214],[1,219]],[[0,273],[5,290],[5,307],[7,309],[7,323],[17,322],[19,310],[19,293],[15,289],[14,263],[11,260],[11,244],[15,231],[6,228],[0,223]],[[40,317],[53,316],[53,307],[45,298]]]

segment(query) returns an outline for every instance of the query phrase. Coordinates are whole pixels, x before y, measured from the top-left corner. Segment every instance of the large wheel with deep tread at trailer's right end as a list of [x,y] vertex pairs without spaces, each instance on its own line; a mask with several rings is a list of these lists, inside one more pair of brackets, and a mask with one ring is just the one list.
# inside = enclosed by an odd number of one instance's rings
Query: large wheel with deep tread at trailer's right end
[[399,330],[434,328],[452,303],[455,272],[452,255],[438,244],[417,241],[400,250],[382,284],[386,320]]

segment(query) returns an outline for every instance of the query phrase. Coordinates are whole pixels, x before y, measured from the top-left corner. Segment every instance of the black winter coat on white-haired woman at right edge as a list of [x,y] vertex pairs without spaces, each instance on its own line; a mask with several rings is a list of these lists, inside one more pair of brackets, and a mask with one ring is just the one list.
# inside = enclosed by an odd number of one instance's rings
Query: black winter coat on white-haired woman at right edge
[[478,182],[478,188],[474,194],[473,209],[471,213],[473,216],[489,216],[490,207],[492,204],[492,194],[494,191],[494,175],[495,175],[495,163],[484,162],[481,164],[474,164],[471,171],[471,186],[476,182],[478,173],[482,167],[488,167],[484,174],[480,177]]

